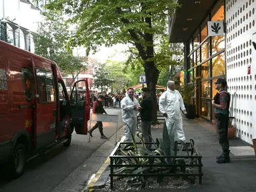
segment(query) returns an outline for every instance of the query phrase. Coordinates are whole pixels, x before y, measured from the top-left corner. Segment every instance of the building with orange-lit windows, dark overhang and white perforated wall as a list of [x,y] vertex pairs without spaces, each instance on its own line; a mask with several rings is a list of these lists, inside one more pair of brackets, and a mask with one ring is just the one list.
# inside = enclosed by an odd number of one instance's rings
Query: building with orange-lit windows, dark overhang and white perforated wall
[[[256,1],[178,2],[182,7],[170,17],[169,41],[184,43],[184,79],[196,87],[191,102],[196,105],[197,116],[209,121],[215,118],[211,105],[217,93],[214,83],[224,77],[231,93],[237,137],[251,143],[256,137]],[[209,21],[223,23],[224,33],[209,35],[216,27],[208,29]]]

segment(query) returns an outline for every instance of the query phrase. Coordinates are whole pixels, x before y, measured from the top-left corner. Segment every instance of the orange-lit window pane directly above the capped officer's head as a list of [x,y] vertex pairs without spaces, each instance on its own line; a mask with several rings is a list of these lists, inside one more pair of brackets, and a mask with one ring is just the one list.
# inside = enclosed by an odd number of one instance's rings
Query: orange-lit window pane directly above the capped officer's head
[[212,59],[213,77],[225,74],[225,52]]

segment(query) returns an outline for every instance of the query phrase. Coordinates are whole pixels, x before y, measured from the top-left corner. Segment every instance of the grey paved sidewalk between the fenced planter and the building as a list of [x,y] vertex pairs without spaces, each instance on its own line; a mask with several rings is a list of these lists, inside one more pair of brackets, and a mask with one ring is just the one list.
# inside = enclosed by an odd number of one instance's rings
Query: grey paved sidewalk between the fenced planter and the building
[[[183,125],[186,139],[194,139],[199,153],[203,156],[203,185],[199,185],[197,179],[196,185],[187,189],[141,191],[256,191],[256,156],[248,143],[238,138],[231,139],[231,163],[218,164],[216,156],[222,151],[213,125],[203,119],[184,119]],[[152,137],[154,140],[162,137],[162,129],[152,129]],[[243,155],[246,153],[251,155]]]

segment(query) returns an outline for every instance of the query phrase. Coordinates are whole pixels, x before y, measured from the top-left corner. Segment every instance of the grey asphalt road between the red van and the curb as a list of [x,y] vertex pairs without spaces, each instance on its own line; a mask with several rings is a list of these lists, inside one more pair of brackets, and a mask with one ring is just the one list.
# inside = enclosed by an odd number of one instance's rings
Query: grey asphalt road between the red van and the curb
[[[119,128],[122,125],[121,110],[106,109],[106,111],[109,115],[119,115]],[[103,124],[106,137],[111,137],[116,133],[115,123]],[[53,191],[61,181],[71,175],[94,151],[106,142],[106,139],[100,139],[98,129],[92,135],[92,141],[88,143],[88,135],[77,135],[74,132],[70,147],[57,147],[46,155],[35,157],[28,162],[27,170],[22,177],[8,182],[1,179],[0,191]]]

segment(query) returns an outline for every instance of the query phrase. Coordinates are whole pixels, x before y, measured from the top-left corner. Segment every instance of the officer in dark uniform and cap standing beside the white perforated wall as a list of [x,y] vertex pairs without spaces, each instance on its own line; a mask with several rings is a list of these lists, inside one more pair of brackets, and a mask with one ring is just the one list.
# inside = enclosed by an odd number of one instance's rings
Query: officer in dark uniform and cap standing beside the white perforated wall
[[215,95],[212,101],[219,135],[219,144],[221,144],[223,149],[223,153],[217,157],[217,163],[230,163],[229,139],[227,138],[230,95],[229,92],[225,91],[226,86],[227,81],[225,79],[217,79],[215,89],[217,89],[219,93]]

